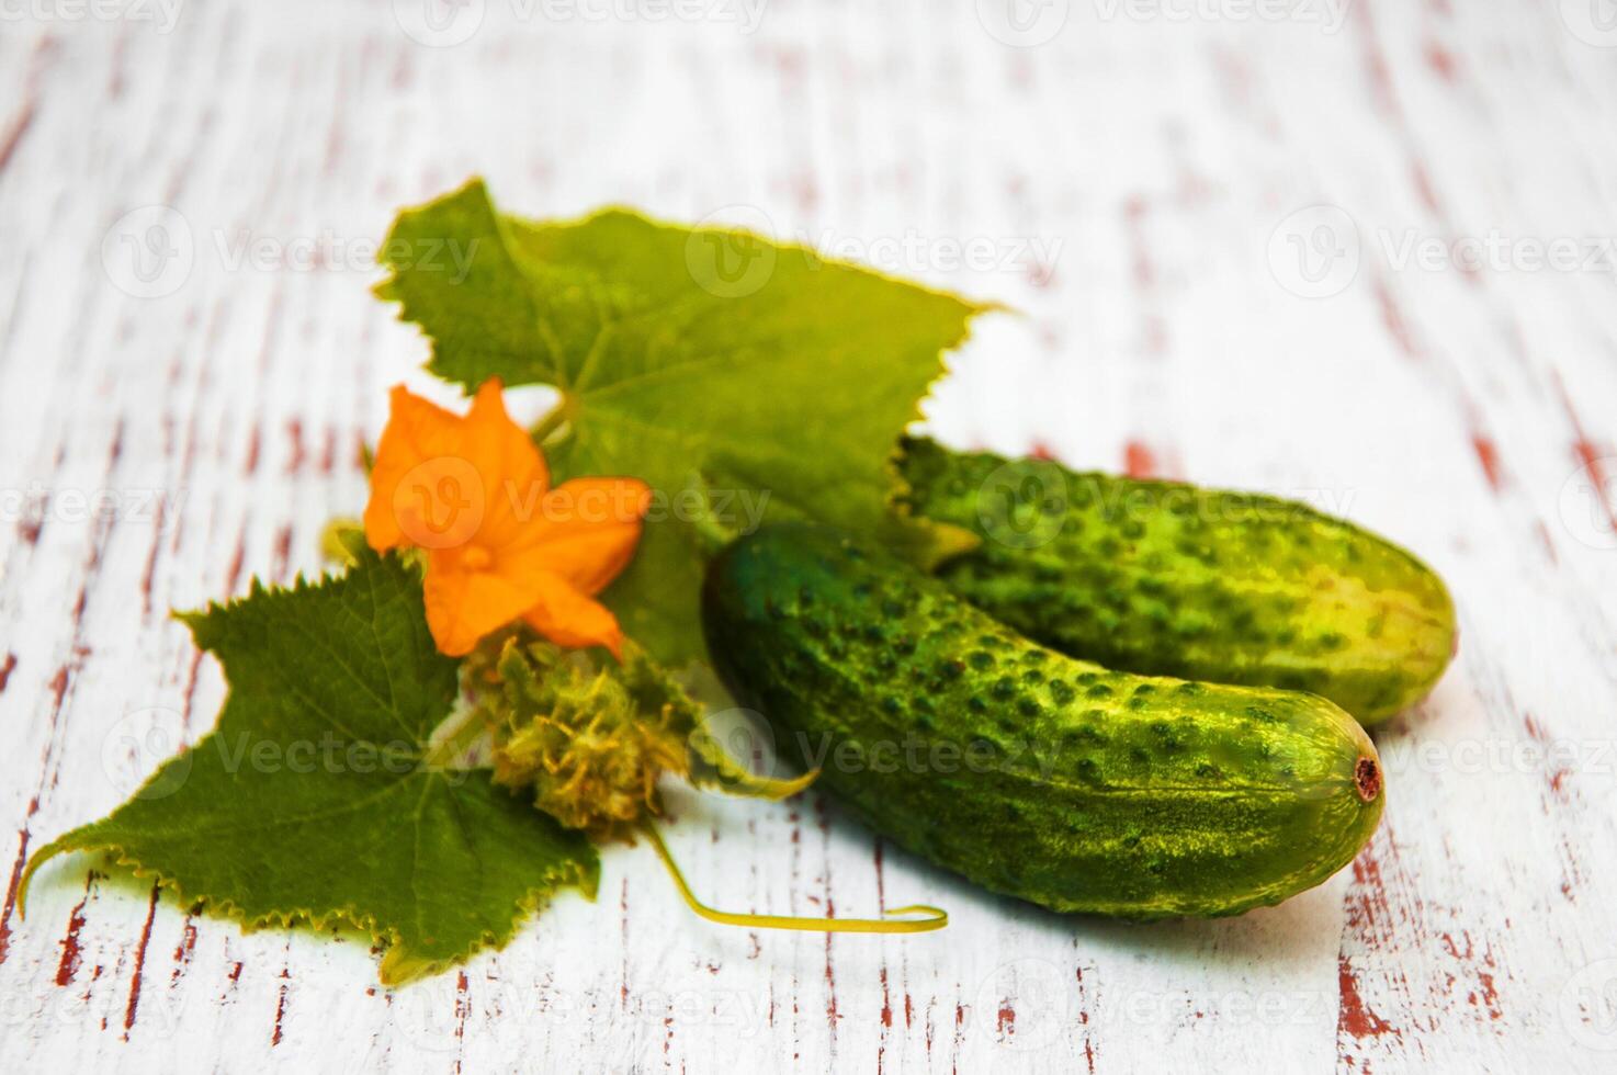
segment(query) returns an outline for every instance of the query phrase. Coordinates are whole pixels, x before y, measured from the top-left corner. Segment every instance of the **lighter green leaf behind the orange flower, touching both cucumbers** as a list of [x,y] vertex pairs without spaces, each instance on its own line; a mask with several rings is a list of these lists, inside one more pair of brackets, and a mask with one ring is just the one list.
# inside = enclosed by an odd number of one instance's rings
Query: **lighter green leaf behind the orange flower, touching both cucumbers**
[[550,449],[556,475],[634,475],[666,498],[605,598],[658,660],[702,656],[702,554],[674,495],[711,461],[794,511],[891,532],[918,561],[959,540],[894,519],[886,464],[943,352],[988,307],[623,209],[524,221],[475,179],[401,213],[383,259],[377,294],[432,339],[433,373],[559,388],[571,436]]

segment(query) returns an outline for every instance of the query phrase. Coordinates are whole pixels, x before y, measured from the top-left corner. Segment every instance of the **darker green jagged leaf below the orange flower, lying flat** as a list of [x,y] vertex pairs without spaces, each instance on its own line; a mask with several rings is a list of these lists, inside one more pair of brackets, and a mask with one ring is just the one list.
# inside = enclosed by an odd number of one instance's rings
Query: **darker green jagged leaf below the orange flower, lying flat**
[[383,981],[503,946],[561,884],[593,894],[579,834],[487,773],[422,763],[456,697],[420,579],[362,546],[319,584],[183,619],[225,664],[213,732],[129,802],[40,849],[112,852],[247,928],[346,923],[388,944]]

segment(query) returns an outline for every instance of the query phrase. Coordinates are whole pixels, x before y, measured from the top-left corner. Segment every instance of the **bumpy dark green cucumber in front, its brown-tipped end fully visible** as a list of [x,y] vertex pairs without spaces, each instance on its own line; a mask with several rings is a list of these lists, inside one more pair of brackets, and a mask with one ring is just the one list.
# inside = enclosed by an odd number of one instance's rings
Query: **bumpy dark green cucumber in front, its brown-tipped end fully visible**
[[703,627],[737,700],[876,833],[1054,910],[1276,904],[1381,818],[1376,750],[1331,702],[1064,656],[825,527],[726,546]]

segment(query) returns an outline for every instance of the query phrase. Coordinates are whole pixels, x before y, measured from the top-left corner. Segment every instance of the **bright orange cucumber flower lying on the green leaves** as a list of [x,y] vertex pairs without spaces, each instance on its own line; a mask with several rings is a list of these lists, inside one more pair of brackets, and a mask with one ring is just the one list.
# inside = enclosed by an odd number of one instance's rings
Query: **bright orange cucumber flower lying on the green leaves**
[[427,626],[450,656],[514,619],[556,645],[621,656],[623,630],[595,595],[634,556],[650,490],[635,478],[551,488],[543,453],[500,391],[485,382],[462,417],[393,390],[365,540],[378,553],[425,550]]

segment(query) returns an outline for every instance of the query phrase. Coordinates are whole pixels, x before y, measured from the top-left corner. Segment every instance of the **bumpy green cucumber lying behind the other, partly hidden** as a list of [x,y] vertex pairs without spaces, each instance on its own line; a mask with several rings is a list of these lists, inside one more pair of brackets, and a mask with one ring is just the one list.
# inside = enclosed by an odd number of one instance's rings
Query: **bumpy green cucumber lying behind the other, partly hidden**
[[906,440],[915,514],[983,543],[941,577],[1062,653],[1153,676],[1311,690],[1365,724],[1423,698],[1454,601],[1402,548],[1311,508]]

